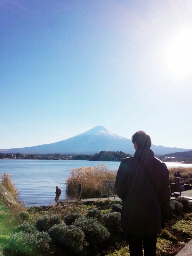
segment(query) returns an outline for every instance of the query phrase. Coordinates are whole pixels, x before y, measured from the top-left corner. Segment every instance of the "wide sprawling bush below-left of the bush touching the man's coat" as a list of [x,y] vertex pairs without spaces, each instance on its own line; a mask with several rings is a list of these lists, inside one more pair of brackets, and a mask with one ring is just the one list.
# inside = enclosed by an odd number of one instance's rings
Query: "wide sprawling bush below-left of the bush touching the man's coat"
[[81,217],[75,220],[74,225],[83,230],[87,243],[91,245],[103,242],[110,237],[110,233],[107,228],[105,228],[95,218],[88,219]]

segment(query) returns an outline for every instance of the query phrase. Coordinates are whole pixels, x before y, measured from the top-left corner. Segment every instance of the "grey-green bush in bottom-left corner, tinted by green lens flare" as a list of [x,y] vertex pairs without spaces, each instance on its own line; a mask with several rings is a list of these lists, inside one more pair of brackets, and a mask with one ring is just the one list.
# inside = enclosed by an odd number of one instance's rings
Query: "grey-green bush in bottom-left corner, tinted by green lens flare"
[[38,253],[47,255],[51,240],[52,239],[45,232],[36,231],[34,233],[26,233],[20,231],[12,234],[4,250],[8,252],[9,255],[14,256],[34,256]]

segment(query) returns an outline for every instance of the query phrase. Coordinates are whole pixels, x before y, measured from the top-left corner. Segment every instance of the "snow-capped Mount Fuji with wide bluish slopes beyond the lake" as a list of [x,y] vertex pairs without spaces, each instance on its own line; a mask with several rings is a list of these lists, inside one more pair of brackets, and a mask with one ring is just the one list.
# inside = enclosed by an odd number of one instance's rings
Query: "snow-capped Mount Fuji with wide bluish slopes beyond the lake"
[[[165,155],[174,152],[189,151],[184,148],[167,148],[152,145],[155,155]],[[27,148],[0,149],[0,153],[21,154],[95,154],[100,151],[123,151],[133,155],[135,150],[132,141],[109,130],[105,126],[95,126],[91,130],[78,134],[67,140],[51,144],[43,144]]]

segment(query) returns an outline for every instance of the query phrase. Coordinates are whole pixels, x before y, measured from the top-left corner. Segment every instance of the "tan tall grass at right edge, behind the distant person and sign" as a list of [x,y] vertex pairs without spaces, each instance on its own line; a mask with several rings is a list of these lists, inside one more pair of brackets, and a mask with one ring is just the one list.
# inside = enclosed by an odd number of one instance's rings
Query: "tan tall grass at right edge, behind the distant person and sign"
[[192,167],[170,167],[169,169],[169,176],[170,176],[170,182],[175,182],[175,177],[173,176],[173,173],[179,171],[181,176],[183,176],[184,181],[189,181],[189,183],[192,183]]

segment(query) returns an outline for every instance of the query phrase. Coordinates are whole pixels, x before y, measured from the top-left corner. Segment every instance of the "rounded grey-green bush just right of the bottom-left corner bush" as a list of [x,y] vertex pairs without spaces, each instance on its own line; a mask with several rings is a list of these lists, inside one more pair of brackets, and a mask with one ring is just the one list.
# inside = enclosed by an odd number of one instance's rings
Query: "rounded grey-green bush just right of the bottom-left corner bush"
[[84,232],[81,228],[66,224],[53,225],[48,234],[56,243],[59,242],[75,253],[83,250]]

